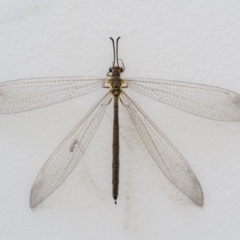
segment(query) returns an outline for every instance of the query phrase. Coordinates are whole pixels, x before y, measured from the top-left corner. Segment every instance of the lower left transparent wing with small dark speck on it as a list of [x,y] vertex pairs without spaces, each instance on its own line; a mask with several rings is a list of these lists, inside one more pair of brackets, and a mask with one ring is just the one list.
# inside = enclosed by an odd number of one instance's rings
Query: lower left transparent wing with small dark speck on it
[[36,178],[30,196],[31,208],[54,192],[74,169],[96,132],[111,100],[107,93],[59,145]]

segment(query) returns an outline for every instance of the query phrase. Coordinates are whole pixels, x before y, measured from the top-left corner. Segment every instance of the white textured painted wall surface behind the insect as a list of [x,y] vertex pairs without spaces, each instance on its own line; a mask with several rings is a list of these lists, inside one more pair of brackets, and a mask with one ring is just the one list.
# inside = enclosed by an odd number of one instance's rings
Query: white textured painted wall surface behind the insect
[[[125,77],[182,80],[240,93],[239,1],[0,3],[0,81],[105,77],[121,36]],[[29,207],[55,148],[104,94],[0,115],[0,239],[240,239],[240,122],[217,122],[126,90],[198,177],[198,207],[159,170],[120,105],[120,195],[111,196],[112,105],[66,181]],[[0,92],[1,94],[1,92]]]

